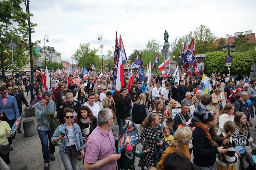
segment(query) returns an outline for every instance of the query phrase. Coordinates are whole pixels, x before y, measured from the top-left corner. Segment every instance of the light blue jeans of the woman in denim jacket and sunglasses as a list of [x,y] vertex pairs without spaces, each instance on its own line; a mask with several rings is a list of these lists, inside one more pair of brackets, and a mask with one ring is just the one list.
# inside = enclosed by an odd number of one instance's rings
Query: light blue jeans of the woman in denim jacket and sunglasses
[[65,170],[74,170],[76,169],[78,155],[70,155],[69,151],[70,147],[67,146],[65,152],[59,150],[59,156],[65,167]]

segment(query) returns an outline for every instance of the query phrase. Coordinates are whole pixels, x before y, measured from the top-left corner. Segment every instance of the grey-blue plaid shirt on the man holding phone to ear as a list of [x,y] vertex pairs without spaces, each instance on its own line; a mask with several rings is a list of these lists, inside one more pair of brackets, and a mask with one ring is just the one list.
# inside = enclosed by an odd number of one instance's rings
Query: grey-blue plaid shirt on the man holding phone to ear
[[47,117],[47,113],[54,112],[57,115],[56,105],[53,100],[51,100],[46,107],[44,107],[42,100],[35,104],[35,115],[37,118],[37,130],[51,130],[51,125]]

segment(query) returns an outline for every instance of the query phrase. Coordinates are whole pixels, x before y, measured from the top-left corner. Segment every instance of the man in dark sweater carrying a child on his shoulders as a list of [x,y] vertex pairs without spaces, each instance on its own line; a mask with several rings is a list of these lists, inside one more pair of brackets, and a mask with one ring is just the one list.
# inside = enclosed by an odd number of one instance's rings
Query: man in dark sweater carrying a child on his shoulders
[[[211,118],[204,121],[204,124],[208,128],[215,127],[218,122],[218,118],[216,114],[213,114]],[[209,130],[210,135],[211,131]],[[207,169],[207,170],[217,170],[216,168],[216,154],[223,154],[227,152],[227,149],[224,149],[223,146],[218,148],[213,148],[208,139],[205,137],[203,131],[199,128],[195,128],[193,131],[193,164],[195,170]],[[219,145],[225,144],[227,140],[224,140],[222,143],[218,143]]]

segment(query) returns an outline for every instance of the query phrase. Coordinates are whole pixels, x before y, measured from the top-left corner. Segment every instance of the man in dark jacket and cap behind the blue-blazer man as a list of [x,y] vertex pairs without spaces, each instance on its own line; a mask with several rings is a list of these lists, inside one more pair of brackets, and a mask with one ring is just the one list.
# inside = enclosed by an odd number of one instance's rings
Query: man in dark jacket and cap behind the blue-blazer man
[[[17,105],[18,105],[18,108],[19,108],[19,116],[21,116],[21,113],[22,113],[22,102],[26,105],[26,109],[27,110],[29,109],[28,102],[25,99],[24,95],[22,93],[19,93],[19,87],[17,85],[14,85],[12,87],[12,90],[13,90],[13,92],[8,94],[8,95],[14,96],[16,98]],[[22,131],[20,130],[20,126],[19,126],[19,129],[17,131],[18,131],[18,133],[22,133]]]

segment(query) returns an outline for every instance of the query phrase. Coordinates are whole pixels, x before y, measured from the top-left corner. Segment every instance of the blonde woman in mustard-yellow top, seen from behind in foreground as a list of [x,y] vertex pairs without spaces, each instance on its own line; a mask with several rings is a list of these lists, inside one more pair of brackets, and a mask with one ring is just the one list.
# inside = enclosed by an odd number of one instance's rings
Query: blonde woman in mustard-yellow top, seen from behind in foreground
[[190,128],[187,127],[182,127],[178,128],[175,132],[175,138],[170,144],[170,146],[162,153],[162,157],[160,162],[158,163],[157,169],[158,170],[163,170],[163,161],[164,158],[169,154],[169,153],[174,153],[174,152],[180,152],[184,153],[186,157],[191,160],[190,152],[189,152],[189,142],[191,141],[192,138],[192,131]]

